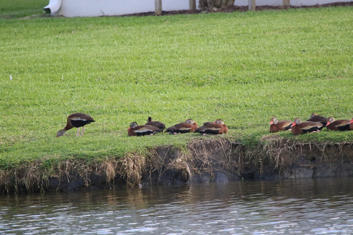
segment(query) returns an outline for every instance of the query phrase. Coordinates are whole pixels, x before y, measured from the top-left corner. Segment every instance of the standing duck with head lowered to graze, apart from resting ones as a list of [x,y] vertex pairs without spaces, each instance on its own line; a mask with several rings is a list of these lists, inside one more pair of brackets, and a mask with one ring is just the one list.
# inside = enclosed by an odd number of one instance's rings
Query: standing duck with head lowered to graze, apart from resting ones
[[67,117],[67,123],[64,129],[61,129],[56,133],[56,137],[62,136],[65,134],[67,130],[70,130],[71,128],[76,127],[77,128],[77,134],[80,133],[80,127],[82,126],[82,133],[81,136],[83,136],[83,132],[85,131],[84,125],[89,124],[91,122],[95,122],[93,118],[90,116],[86,115],[85,113],[73,113]]

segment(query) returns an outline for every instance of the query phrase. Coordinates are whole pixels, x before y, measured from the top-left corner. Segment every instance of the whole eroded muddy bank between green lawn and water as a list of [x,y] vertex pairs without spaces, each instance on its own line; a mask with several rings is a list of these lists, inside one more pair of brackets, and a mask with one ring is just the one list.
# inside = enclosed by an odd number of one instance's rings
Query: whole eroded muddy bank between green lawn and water
[[131,154],[90,165],[66,161],[50,174],[41,170],[41,162],[33,162],[20,169],[1,171],[0,189],[5,193],[70,191],[353,175],[352,143],[291,143],[276,135],[268,138],[256,147],[212,139],[193,142],[183,151],[169,146],[150,150],[145,156]]

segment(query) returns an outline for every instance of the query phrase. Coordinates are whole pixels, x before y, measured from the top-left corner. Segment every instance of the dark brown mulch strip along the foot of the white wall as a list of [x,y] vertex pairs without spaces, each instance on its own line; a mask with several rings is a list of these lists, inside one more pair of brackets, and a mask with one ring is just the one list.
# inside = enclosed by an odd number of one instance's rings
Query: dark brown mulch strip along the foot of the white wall
[[[265,10],[282,10],[282,9],[297,9],[297,8],[319,8],[319,7],[337,7],[337,6],[353,6],[353,1],[352,2],[334,2],[334,3],[329,3],[329,4],[317,4],[313,6],[257,6],[256,11],[265,11]],[[243,12],[243,11],[249,11],[248,6],[229,6],[229,7],[224,7],[220,8],[215,12]],[[162,16],[170,16],[170,15],[178,15],[178,14],[199,14],[199,13],[209,13],[201,10],[195,10],[195,11],[190,11],[190,10],[180,10],[180,11],[162,11]],[[135,13],[135,14],[126,14],[126,15],[121,15],[122,17],[124,16],[154,16],[155,12],[150,11],[150,12],[142,12],[142,13]]]

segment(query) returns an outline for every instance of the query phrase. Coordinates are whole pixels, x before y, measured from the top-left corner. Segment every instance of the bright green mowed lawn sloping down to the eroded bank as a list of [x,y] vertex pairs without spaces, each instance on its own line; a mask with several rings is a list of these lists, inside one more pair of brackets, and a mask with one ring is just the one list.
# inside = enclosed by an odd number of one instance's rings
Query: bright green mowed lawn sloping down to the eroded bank
[[[353,117],[352,7],[63,18],[42,16],[43,6],[1,8],[0,169],[218,138],[127,136],[131,122],[149,116],[167,127],[221,118],[229,127],[221,137],[254,146],[274,116]],[[96,122],[82,137],[74,128],[57,138],[74,112]],[[353,142],[350,131],[278,135]]]

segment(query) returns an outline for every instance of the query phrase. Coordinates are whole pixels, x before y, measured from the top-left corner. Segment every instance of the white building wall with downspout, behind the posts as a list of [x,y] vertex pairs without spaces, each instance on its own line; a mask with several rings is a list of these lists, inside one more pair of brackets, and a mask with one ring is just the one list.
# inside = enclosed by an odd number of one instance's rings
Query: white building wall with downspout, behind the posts
[[[235,0],[235,6],[248,6],[255,0]],[[288,1],[288,0],[287,0]],[[352,0],[290,0],[291,6],[310,6]],[[49,0],[44,12],[52,16],[96,17],[154,12],[157,5],[163,11],[189,10],[192,0]],[[256,0],[256,6],[281,6],[283,0]],[[195,5],[194,5],[195,6]],[[198,6],[198,0],[196,0]],[[156,11],[157,12],[157,11]]]

